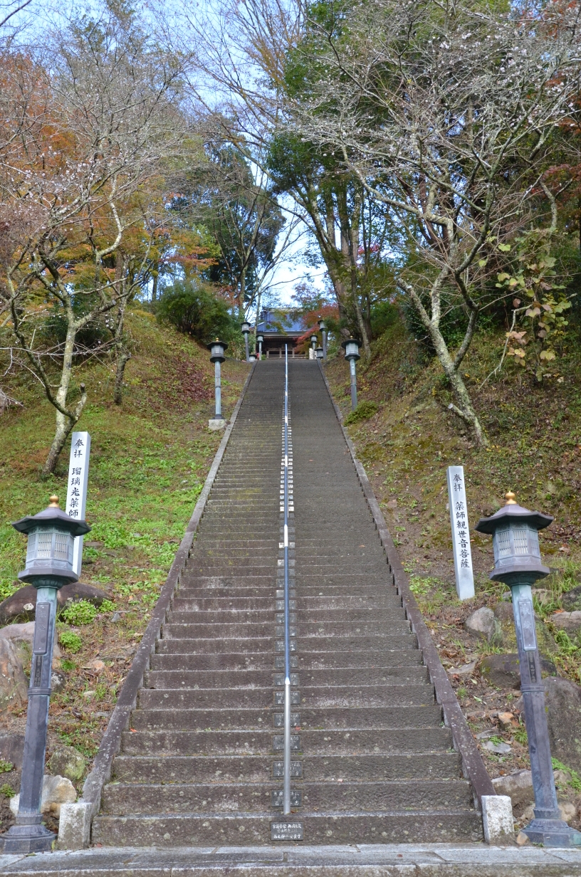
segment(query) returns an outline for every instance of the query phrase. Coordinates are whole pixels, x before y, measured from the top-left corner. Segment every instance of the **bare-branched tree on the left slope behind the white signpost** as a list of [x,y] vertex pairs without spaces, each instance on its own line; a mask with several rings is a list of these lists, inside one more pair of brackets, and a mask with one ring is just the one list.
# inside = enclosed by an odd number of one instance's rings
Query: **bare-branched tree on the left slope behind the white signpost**
[[[122,381],[123,317],[140,274],[122,245],[136,225],[147,236],[146,183],[181,154],[184,124],[175,93],[181,67],[149,41],[132,13],[107,10],[71,22],[45,48],[47,63],[11,53],[5,73],[0,296],[56,409],[44,466],[50,473],[87,400],[82,384],[70,400],[75,337],[113,312]],[[58,374],[39,355],[39,303],[52,304],[66,321]]]

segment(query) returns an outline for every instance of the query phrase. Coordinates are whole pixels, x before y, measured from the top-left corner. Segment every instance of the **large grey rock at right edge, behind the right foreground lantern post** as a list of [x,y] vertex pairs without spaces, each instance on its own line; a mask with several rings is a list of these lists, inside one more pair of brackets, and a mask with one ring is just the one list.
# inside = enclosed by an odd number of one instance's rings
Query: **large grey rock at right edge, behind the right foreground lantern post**
[[581,687],[559,677],[545,679],[551,755],[581,772]]

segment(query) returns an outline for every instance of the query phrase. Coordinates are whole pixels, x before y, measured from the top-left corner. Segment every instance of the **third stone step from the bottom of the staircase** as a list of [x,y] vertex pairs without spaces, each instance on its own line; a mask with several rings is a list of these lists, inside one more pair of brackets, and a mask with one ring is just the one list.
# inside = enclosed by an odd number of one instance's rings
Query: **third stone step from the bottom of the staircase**
[[[457,752],[415,752],[298,757],[304,780],[343,781],[457,780],[461,762]],[[114,781],[126,783],[263,782],[272,778],[272,755],[126,755],[113,761]],[[280,780],[278,780],[280,781]],[[277,781],[277,782],[278,782]]]

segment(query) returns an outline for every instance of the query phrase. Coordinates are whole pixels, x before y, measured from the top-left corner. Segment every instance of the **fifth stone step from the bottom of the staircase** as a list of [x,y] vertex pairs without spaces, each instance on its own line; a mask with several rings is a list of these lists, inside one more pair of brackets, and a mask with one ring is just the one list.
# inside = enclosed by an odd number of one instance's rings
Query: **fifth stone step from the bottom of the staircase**
[[[263,729],[280,727],[281,708],[270,709],[136,709],[132,727],[136,731]],[[357,707],[355,709],[308,709],[297,707],[301,728],[439,728],[441,708],[429,706]],[[275,718],[276,717],[276,718]]]

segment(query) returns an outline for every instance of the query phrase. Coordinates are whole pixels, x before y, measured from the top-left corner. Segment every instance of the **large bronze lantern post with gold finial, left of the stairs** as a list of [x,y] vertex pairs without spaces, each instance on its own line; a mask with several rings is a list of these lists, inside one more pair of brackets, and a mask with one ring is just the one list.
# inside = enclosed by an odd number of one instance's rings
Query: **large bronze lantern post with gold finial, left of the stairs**
[[59,497],[51,496],[47,509],[12,524],[26,533],[26,567],[21,581],[37,589],[32,664],[26,711],[25,749],[20,779],[16,824],[4,835],[4,853],[43,852],[52,849],[55,835],[42,824],[40,805],[47,750],[48,706],[56,622],[56,597],[63,585],[79,581],[73,569],[75,537],[90,531],[86,521],[77,521],[59,508]]

